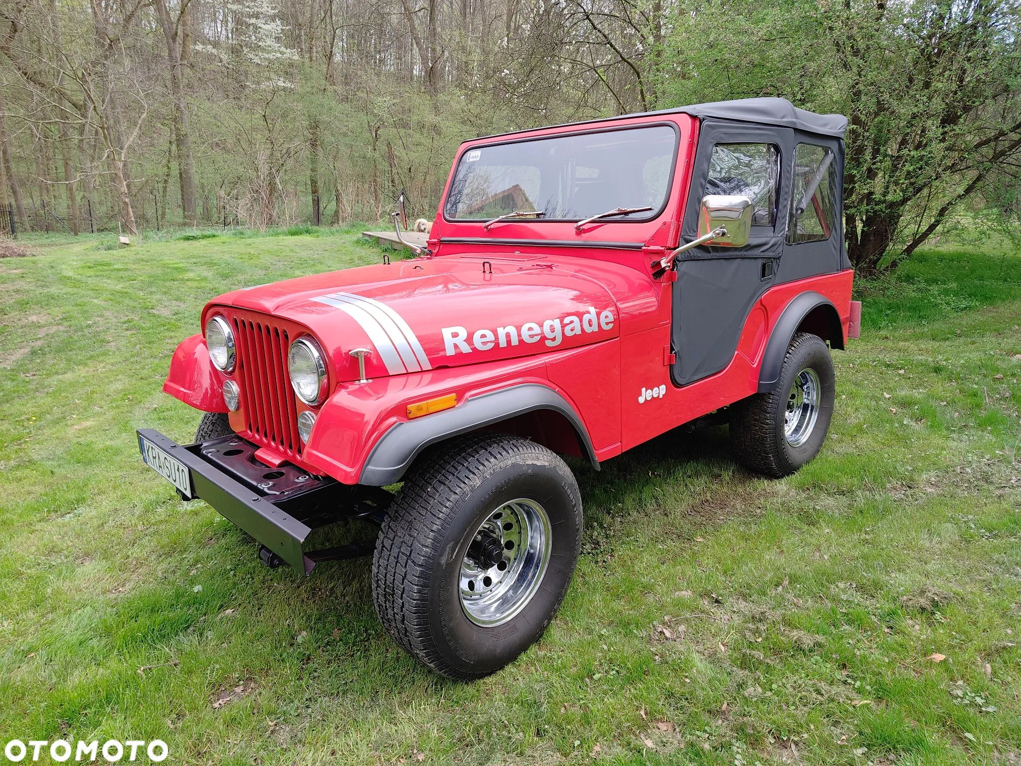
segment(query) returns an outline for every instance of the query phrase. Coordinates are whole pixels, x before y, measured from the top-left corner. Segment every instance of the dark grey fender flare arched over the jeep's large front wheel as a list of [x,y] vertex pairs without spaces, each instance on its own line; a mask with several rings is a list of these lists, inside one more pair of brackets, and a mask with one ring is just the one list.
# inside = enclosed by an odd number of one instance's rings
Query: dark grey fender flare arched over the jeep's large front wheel
[[578,435],[583,451],[595,470],[599,470],[599,461],[588,431],[568,400],[546,386],[524,383],[473,396],[451,410],[391,426],[373,447],[358,483],[385,487],[398,482],[419,453],[430,444],[536,410],[551,410],[567,418]]

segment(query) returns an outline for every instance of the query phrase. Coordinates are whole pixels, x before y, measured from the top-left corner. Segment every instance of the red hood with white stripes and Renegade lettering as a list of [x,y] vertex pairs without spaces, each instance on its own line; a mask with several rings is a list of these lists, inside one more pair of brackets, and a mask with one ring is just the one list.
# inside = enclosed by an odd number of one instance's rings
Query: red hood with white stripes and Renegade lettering
[[[448,256],[235,290],[210,301],[206,313],[233,305],[306,327],[344,381],[357,377],[349,355],[355,348],[372,352],[369,377],[383,377],[616,338],[621,315],[612,296],[636,296],[641,277],[629,267],[577,257]],[[619,292],[622,283],[631,289]]]

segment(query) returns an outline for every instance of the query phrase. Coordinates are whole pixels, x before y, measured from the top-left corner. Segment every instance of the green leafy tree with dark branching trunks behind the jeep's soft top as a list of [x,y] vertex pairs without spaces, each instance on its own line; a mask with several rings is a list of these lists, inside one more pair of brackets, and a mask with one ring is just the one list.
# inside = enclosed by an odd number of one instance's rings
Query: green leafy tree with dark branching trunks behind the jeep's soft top
[[[675,14],[667,103],[785,96],[849,118],[847,252],[868,273],[1021,158],[1017,2],[710,2]],[[698,42],[701,41],[701,45]]]

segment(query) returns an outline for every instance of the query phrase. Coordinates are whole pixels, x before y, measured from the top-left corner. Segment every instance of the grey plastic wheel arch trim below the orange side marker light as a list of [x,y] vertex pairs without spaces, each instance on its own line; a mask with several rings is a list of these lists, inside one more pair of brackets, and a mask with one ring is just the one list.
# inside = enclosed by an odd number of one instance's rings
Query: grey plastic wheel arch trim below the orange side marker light
[[553,451],[577,453],[599,470],[592,440],[571,403],[547,386],[525,383],[391,426],[370,452],[358,483],[387,486],[398,482],[426,447],[486,430],[528,437]]

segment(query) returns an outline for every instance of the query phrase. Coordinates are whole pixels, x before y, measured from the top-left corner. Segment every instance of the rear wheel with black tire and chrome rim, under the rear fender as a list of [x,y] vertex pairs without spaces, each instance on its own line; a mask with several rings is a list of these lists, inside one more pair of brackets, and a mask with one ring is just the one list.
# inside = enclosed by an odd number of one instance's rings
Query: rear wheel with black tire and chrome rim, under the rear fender
[[818,335],[797,333],[776,387],[734,406],[730,438],[738,460],[773,478],[797,471],[822,448],[835,393],[829,347]]

